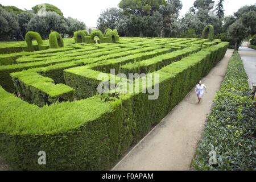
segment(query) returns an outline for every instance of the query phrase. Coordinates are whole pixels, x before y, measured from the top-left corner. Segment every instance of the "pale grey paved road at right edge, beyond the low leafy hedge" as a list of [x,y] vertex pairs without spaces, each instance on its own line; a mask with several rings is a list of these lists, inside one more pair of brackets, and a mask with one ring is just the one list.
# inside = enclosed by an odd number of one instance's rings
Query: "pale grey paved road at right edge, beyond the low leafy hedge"
[[240,47],[238,52],[243,60],[251,88],[251,84],[256,82],[256,51],[248,47]]

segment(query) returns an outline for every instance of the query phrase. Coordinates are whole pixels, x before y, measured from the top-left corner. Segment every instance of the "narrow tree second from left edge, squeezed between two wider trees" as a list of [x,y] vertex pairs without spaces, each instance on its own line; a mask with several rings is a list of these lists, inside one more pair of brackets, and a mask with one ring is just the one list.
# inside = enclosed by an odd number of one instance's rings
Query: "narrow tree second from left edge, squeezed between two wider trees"
[[19,30],[18,34],[24,40],[24,37],[27,32],[27,24],[30,22],[30,19],[32,18],[32,15],[27,12],[23,12],[18,14],[18,23],[19,23]]

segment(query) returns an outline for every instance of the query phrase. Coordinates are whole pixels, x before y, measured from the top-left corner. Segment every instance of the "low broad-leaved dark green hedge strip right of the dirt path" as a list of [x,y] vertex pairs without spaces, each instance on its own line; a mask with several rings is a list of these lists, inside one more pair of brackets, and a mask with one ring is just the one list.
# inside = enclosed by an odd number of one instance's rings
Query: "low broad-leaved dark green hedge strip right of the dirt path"
[[[241,57],[234,52],[192,161],[196,170],[255,170],[256,111],[247,80]],[[210,151],[217,154],[213,166]]]

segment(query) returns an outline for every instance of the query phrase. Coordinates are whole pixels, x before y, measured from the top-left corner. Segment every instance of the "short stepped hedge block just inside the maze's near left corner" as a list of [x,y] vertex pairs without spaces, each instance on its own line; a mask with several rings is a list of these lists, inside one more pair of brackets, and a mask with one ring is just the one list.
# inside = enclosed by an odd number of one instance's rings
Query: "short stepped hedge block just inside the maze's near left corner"
[[73,101],[74,90],[67,85],[53,84],[53,80],[40,76],[34,70],[11,73],[20,97],[40,107],[55,102]]

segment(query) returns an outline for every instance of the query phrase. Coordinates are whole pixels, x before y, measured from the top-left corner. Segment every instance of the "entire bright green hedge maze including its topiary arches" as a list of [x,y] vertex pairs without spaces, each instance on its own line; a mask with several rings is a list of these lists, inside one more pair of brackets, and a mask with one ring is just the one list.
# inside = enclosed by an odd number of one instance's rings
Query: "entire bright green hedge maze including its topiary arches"
[[[0,156],[13,169],[110,169],[207,75],[229,45],[215,39],[118,41],[116,30],[75,35],[81,43],[63,39],[61,47],[52,32],[50,47],[60,48],[0,55]],[[36,36],[26,40],[40,43]],[[100,44],[88,44],[94,36]],[[98,75],[110,76],[113,68],[115,80],[121,79],[117,73],[158,73],[159,98],[97,93]],[[46,151],[46,165],[38,164],[39,151]]]

